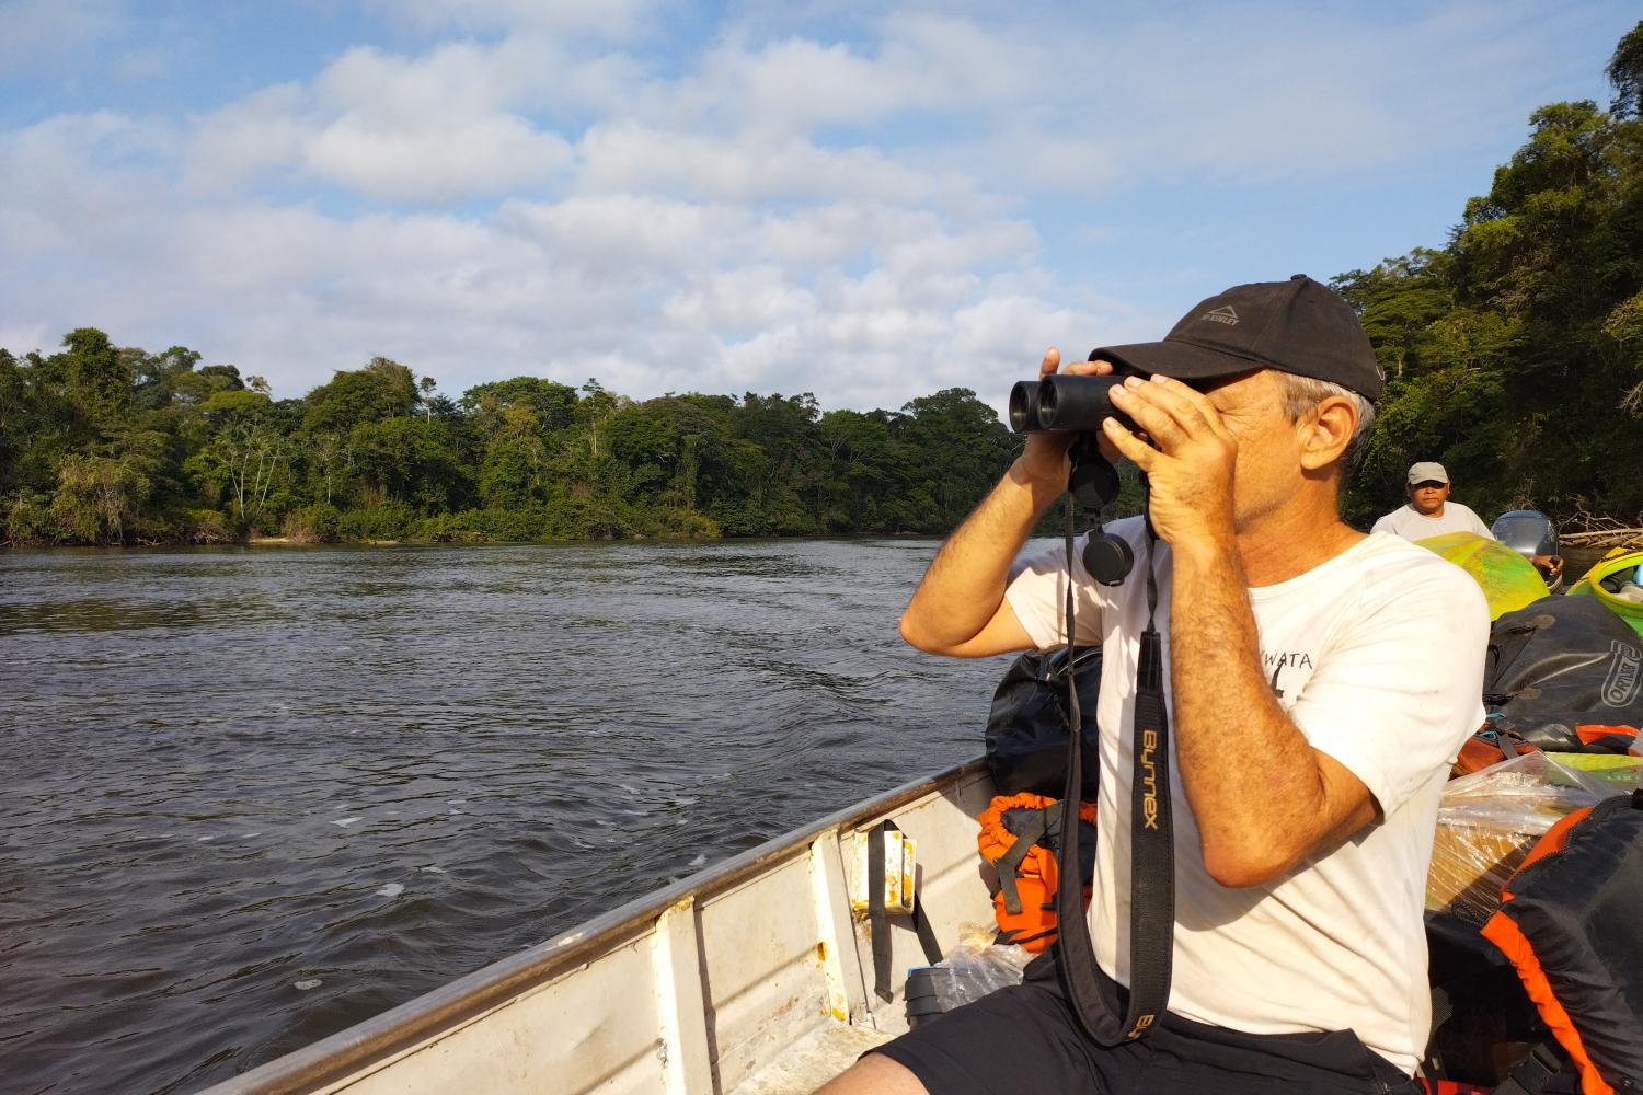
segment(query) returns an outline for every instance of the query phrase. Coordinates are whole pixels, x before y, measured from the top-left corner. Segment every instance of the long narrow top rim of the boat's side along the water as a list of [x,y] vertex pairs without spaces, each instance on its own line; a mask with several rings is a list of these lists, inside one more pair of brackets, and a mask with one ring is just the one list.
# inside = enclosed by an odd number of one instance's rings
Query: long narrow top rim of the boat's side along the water
[[762,873],[772,864],[790,859],[830,829],[849,829],[881,816],[933,790],[956,783],[986,770],[986,758],[976,757],[882,795],[854,803],[802,829],[771,837],[746,852],[652,890],[633,901],[601,913],[568,932],[498,959],[439,988],[432,988],[388,1011],[355,1023],[317,1042],[296,1049],[205,1088],[200,1095],[286,1095],[312,1092],[360,1072],[373,1062],[412,1049],[440,1031],[453,1031],[467,1021],[491,1011],[519,993],[544,985],[570,967],[598,957],[624,941],[633,941],[669,908],[685,898],[720,893]]

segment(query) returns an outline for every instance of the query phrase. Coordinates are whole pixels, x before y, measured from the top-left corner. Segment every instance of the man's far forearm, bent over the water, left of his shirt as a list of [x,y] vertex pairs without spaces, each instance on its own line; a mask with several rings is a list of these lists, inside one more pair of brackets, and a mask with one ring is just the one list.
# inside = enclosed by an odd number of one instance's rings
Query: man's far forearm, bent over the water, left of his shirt
[[1017,460],[937,552],[902,614],[902,637],[950,653],[981,634],[1004,601],[1010,561],[1063,489]]

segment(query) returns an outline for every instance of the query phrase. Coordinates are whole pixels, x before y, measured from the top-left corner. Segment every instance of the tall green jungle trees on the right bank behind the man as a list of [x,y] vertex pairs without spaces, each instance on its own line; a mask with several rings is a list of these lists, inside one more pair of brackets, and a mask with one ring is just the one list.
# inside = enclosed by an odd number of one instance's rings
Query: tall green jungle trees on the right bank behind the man
[[1643,511],[1643,23],[1608,110],[1551,103],[1449,241],[1334,279],[1387,369],[1349,496],[1365,519],[1438,460],[1485,520]]

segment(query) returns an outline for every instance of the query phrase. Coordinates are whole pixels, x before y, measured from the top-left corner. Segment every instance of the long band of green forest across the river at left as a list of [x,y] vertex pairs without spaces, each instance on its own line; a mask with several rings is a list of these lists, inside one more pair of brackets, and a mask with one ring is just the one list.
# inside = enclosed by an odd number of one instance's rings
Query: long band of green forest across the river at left
[[274,401],[194,350],[81,328],[0,351],[13,545],[935,534],[1010,460],[973,392],[900,410],[805,396],[633,401],[596,381],[450,399],[386,358]]

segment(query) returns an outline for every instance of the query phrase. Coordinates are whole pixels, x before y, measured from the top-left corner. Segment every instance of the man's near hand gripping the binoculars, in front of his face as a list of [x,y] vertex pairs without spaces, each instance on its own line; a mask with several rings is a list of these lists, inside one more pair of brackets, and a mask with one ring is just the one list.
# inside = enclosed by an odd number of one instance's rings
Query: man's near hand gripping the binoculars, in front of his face
[[1112,389],[1112,405],[1145,430],[1150,445],[1116,419],[1106,440],[1147,473],[1152,527],[1176,550],[1232,545],[1232,470],[1237,440],[1203,392],[1153,374]]

